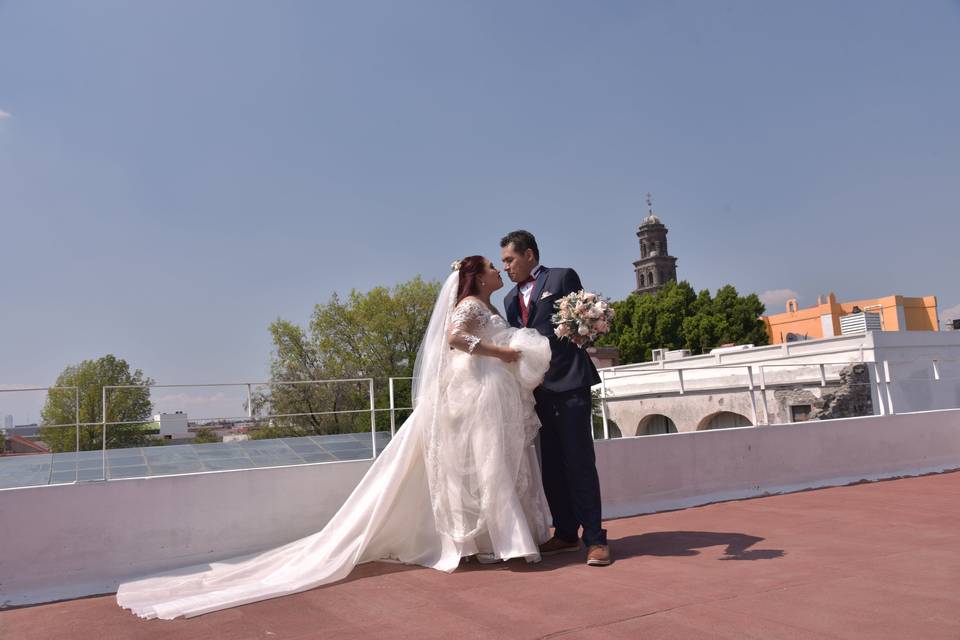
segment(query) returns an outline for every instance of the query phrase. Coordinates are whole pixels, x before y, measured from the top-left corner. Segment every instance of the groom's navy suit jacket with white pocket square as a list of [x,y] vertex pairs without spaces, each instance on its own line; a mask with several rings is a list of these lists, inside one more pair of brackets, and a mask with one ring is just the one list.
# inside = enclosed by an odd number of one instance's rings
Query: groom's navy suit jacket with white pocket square
[[[550,368],[544,376],[542,389],[554,393],[564,393],[576,389],[591,387],[600,382],[597,368],[587,352],[569,340],[560,340],[553,332],[551,317],[554,314],[553,303],[563,296],[580,291],[580,276],[573,269],[548,269],[540,267],[537,282],[530,293],[530,315],[527,327],[536,329],[550,339]],[[504,299],[507,322],[520,328],[520,287],[515,286]]]

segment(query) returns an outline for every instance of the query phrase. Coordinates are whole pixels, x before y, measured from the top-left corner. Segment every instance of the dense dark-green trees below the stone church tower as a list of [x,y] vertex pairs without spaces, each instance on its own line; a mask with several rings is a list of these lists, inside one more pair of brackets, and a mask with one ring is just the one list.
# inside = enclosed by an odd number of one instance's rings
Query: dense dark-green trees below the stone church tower
[[686,281],[668,282],[656,294],[631,294],[613,303],[616,316],[598,345],[617,347],[624,364],[650,360],[653,349],[706,353],[721,344],[767,344],[756,294],[741,296],[731,285],[711,296]]

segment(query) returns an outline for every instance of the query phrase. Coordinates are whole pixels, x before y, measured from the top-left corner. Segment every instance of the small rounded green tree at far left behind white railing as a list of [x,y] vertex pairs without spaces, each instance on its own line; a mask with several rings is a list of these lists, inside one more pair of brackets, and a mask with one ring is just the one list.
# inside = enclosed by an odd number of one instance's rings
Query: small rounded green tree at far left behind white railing
[[[97,360],[84,360],[80,364],[70,365],[57,376],[55,386],[77,387],[80,400],[80,423],[99,423],[103,410],[103,387],[112,385],[149,385],[153,380],[144,377],[137,369],[130,371],[125,360],[106,355]],[[151,413],[150,390],[113,389],[107,395],[107,422],[128,422],[132,424],[108,424],[107,448],[117,449],[138,447],[149,444],[144,423],[149,423]],[[76,406],[72,389],[53,389],[47,392],[47,400],[41,411],[40,439],[59,453],[75,451],[77,431],[75,427],[56,427],[53,425],[73,425],[76,421]],[[100,449],[103,447],[103,431],[100,426],[80,427],[80,450]]]

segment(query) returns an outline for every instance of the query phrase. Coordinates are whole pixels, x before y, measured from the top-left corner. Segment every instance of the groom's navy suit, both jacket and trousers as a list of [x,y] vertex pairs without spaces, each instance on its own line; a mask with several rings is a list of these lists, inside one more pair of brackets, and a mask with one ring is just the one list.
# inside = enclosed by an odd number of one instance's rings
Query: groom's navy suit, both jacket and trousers
[[[543,384],[537,387],[537,415],[543,488],[553,515],[554,535],[573,542],[580,537],[586,545],[606,544],[601,526],[600,479],[593,451],[593,418],[590,387],[600,382],[597,368],[586,351],[554,334],[553,303],[580,291],[580,277],[573,269],[541,267],[530,293],[527,327],[550,339],[552,357]],[[522,327],[520,290],[514,287],[504,305],[507,322]]]

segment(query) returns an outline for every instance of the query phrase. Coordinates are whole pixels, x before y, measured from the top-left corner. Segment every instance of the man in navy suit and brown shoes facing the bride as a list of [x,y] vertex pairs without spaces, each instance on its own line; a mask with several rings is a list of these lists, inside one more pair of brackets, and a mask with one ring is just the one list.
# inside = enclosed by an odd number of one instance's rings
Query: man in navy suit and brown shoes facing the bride
[[580,548],[580,528],[587,546],[587,564],[610,564],[607,532],[600,522],[600,480],[593,452],[590,387],[600,382],[597,369],[583,350],[554,334],[553,303],[580,291],[573,269],[548,269],[540,264],[537,241],[529,231],[512,231],[500,241],[503,270],[517,283],[504,304],[507,321],[550,338],[553,355],[543,384],[537,387],[537,415],[543,489],[553,515],[553,537],[540,545],[543,555]]

